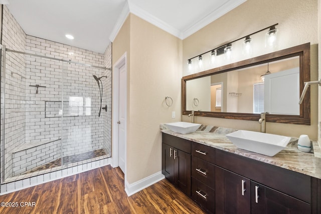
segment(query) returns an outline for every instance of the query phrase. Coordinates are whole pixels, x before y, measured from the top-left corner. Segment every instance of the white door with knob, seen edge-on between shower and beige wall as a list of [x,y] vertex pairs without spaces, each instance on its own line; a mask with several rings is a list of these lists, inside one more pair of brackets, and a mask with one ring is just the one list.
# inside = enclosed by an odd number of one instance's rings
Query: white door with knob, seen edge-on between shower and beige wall
[[125,172],[125,143],[126,143],[126,69],[119,68],[119,103],[118,103],[118,162],[119,168]]

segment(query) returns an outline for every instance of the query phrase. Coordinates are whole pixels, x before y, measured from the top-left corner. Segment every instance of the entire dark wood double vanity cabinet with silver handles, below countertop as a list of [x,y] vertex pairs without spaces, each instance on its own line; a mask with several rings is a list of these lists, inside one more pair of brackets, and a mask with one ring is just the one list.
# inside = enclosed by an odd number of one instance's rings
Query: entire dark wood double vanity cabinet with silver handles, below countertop
[[162,172],[208,213],[321,213],[321,179],[163,133]]

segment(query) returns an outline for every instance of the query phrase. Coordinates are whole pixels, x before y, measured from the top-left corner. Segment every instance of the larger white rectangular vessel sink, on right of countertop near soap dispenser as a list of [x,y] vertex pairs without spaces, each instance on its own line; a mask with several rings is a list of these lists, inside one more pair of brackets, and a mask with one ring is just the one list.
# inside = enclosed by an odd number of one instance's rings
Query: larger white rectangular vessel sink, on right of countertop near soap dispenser
[[255,131],[238,130],[226,136],[236,147],[248,151],[274,156],[290,141],[290,137],[275,134],[267,134]]

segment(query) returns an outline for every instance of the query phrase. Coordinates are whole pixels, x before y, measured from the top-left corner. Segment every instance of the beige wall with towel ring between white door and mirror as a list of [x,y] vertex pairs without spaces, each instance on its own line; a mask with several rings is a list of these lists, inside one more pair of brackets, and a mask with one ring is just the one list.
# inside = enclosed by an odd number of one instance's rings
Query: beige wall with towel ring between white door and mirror
[[[130,14],[113,42],[113,63],[124,51],[130,58],[126,177],[131,184],[161,171],[159,124],[181,121],[182,40]],[[166,96],[173,99],[171,107]]]

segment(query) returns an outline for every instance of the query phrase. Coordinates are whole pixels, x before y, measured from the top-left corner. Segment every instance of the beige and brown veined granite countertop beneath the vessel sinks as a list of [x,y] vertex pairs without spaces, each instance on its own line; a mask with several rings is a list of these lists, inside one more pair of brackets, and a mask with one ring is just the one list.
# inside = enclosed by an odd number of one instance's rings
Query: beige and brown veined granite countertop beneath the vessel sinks
[[202,125],[193,133],[180,134],[168,129],[165,124],[161,124],[160,128],[170,135],[321,179],[321,149],[316,141],[312,142],[313,150],[306,153],[297,149],[297,138],[291,138],[285,149],[270,157],[237,148],[225,136],[236,129]]

